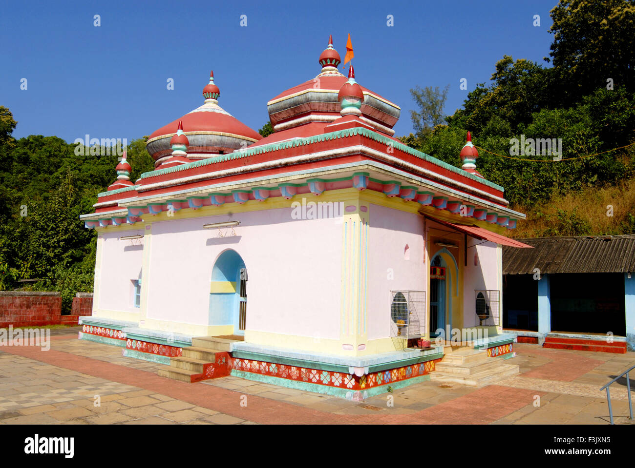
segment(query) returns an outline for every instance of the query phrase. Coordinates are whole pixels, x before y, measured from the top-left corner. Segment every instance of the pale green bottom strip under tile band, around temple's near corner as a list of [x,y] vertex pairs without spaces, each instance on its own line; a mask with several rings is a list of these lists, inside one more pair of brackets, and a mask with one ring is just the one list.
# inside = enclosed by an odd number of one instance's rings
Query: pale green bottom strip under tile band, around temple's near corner
[[399,382],[392,382],[391,384],[380,385],[364,390],[351,390],[347,388],[337,388],[327,385],[313,384],[311,382],[300,382],[298,380],[282,379],[281,377],[273,377],[272,375],[255,374],[253,372],[245,372],[244,370],[232,369],[230,375],[234,377],[241,377],[241,379],[262,382],[264,384],[277,385],[279,387],[293,388],[312,393],[337,396],[339,398],[346,398],[347,400],[352,400],[354,394],[356,393],[361,394],[361,400],[364,400],[366,398],[370,398],[371,396],[389,393],[388,387],[391,387],[392,390],[396,390],[430,380],[430,375],[418,375],[417,377],[412,377],[411,379],[406,380],[399,380]]

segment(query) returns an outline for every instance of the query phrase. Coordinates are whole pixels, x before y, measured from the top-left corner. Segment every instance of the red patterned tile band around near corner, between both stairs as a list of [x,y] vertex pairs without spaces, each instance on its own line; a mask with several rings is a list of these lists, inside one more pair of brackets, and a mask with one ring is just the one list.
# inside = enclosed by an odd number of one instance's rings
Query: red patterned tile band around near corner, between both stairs
[[440,359],[425,361],[404,367],[382,370],[380,372],[371,372],[370,374],[358,377],[357,375],[345,374],[344,372],[309,369],[265,361],[254,361],[242,358],[233,358],[232,360],[232,368],[244,372],[245,374],[267,375],[281,379],[296,380],[298,382],[309,382],[311,384],[342,388],[350,391],[362,391],[364,389],[393,384],[401,380],[427,375],[434,370],[436,361],[440,361]]

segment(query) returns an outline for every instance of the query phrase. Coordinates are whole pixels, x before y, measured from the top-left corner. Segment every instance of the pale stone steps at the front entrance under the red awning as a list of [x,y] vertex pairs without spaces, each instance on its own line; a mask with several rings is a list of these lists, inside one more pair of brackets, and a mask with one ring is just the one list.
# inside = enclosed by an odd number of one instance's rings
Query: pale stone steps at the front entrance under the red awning
[[486,350],[460,348],[443,356],[430,380],[481,388],[519,372],[517,365],[505,363],[503,358],[488,358]]

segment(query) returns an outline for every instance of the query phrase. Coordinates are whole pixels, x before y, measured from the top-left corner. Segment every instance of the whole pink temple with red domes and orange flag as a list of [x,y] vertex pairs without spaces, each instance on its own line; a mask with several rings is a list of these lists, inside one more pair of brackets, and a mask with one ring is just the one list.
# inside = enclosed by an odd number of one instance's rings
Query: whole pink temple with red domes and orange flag
[[133,183],[121,160],[81,216],[98,239],[80,338],[187,382],[356,400],[518,373],[502,245],[528,247],[505,237],[525,215],[479,174],[469,133],[461,168],[414,150],[394,137],[399,106],[340,73],[332,39],[319,65],[267,103],[266,138],[220,107],[210,74],[203,105],[151,134],[154,171]]

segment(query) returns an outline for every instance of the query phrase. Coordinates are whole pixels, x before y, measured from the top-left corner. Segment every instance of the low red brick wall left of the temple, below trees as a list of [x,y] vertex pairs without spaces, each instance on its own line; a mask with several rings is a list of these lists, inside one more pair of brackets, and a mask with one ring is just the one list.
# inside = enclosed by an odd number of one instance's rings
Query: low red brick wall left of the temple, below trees
[[79,316],[91,315],[93,308],[92,294],[78,296],[73,299],[72,314],[62,315],[59,292],[0,291],[0,327],[77,325]]

